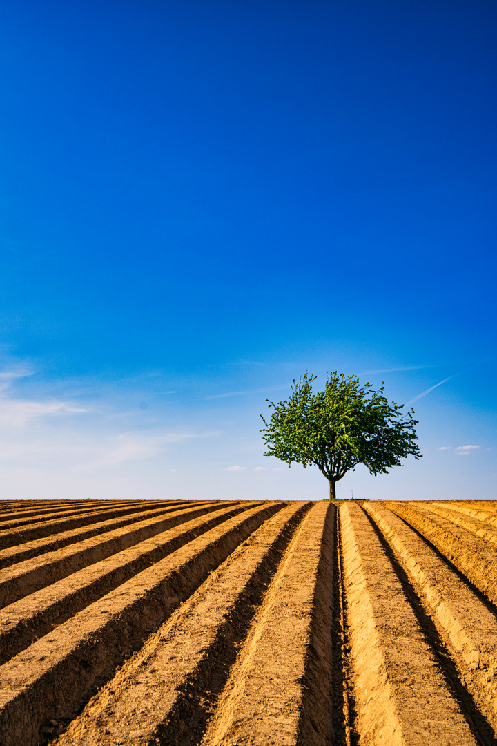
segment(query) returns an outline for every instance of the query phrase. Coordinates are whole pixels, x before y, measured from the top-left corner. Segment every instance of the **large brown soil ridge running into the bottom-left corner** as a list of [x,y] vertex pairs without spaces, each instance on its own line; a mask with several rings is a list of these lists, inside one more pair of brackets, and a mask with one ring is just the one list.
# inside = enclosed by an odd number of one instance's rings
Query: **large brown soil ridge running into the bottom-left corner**
[[31,746],[51,718],[70,717],[99,674],[112,673],[174,606],[283,503],[259,504],[210,530],[91,604],[0,667],[3,746]]

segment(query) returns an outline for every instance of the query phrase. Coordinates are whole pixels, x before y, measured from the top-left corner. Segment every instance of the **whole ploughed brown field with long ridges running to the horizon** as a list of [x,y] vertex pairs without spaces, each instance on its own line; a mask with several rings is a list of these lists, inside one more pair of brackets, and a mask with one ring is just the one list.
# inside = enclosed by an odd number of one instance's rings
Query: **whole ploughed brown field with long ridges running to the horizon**
[[497,746],[497,503],[0,502],[0,744]]

